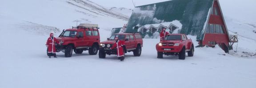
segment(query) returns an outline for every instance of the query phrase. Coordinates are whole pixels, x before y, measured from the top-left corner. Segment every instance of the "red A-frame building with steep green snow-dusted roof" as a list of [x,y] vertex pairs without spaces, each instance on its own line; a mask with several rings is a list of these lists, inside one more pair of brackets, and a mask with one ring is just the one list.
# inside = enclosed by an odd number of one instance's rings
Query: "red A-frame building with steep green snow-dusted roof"
[[[197,36],[200,46],[219,44],[226,52],[232,39],[218,0],[170,0],[138,6],[125,32],[138,32],[140,26],[180,21],[180,33]],[[237,41],[236,41],[237,42]]]

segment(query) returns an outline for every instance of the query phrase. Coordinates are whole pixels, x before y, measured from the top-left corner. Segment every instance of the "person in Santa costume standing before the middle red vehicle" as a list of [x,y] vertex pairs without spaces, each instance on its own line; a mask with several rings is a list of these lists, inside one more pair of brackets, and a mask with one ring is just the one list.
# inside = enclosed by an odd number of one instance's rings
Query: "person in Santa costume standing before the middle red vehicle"
[[124,61],[124,41],[123,40],[119,40],[118,37],[115,38],[116,43],[113,44],[113,46],[110,49],[114,49],[116,48],[116,55],[118,57],[118,59],[120,59],[120,61]]

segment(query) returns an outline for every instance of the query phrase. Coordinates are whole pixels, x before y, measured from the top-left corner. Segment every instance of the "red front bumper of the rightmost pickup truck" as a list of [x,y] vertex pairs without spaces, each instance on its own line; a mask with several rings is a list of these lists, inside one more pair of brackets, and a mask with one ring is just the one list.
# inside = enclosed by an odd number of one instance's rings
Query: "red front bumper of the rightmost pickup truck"
[[158,52],[178,53],[182,50],[182,46],[159,46],[159,45],[156,45],[156,50]]

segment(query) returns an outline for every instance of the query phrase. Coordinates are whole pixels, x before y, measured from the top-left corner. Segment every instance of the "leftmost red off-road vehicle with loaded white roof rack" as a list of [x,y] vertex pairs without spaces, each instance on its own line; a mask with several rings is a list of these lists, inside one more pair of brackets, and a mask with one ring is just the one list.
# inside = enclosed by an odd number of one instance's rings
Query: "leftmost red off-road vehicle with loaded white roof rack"
[[60,45],[56,44],[56,51],[64,52],[65,57],[71,57],[73,50],[76,54],[89,50],[89,55],[96,55],[100,47],[98,25],[80,24],[72,29],[63,30],[57,40],[60,41]]

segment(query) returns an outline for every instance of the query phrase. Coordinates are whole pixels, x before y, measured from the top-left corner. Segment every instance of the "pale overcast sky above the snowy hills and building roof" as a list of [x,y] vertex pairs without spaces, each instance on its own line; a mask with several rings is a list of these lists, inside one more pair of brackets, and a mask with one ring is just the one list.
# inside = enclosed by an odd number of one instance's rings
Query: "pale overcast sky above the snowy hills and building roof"
[[[91,0],[104,7],[134,8],[132,0]],[[133,0],[136,6],[168,0]],[[224,16],[256,22],[256,0],[219,0]]]

